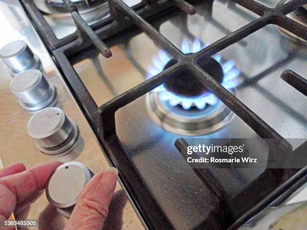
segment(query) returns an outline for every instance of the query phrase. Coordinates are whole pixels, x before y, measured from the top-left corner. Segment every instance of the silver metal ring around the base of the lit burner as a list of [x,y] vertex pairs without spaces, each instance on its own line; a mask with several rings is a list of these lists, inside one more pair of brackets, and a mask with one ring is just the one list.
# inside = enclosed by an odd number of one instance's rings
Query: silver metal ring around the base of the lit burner
[[[146,94],[146,109],[150,118],[165,130],[184,136],[209,134],[230,123],[234,113],[221,101],[204,110],[184,110],[159,99],[157,91]],[[234,95],[237,92],[233,90]]]

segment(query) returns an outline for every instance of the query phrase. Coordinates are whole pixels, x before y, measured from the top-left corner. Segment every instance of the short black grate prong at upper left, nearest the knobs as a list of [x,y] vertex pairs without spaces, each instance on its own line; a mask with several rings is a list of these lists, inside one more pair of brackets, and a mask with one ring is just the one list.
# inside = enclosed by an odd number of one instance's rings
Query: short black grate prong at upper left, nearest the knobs
[[76,6],[70,0],[64,0],[64,3],[71,12],[71,16],[78,30],[78,39],[81,41],[81,43],[85,38],[88,38],[96,49],[103,55],[103,57],[110,58],[112,56],[110,49],[101,41],[98,35],[84,21],[84,19],[82,19]]

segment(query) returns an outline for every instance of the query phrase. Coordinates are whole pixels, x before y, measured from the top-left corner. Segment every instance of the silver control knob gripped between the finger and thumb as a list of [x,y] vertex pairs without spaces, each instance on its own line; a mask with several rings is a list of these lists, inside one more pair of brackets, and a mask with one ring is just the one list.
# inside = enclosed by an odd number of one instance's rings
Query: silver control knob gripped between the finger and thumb
[[67,162],[59,166],[50,177],[46,186],[48,201],[59,212],[70,216],[78,196],[94,173],[80,162]]

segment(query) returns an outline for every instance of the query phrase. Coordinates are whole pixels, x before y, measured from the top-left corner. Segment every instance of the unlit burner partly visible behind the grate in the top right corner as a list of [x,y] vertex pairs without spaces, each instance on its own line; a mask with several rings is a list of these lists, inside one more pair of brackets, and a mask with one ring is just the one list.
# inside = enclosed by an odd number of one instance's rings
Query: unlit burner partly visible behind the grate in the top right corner
[[[291,0],[282,0],[281,2],[278,3],[277,7],[281,7],[282,5],[290,2]],[[307,27],[307,4],[297,8],[295,11],[291,12],[290,14],[287,15],[287,17],[305,27]],[[303,44],[307,44],[307,41],[305,41],[304,39],[292,34],[291,32],[278,27],[278,30],[285,36],[287,36],[290,39],[293,39],[295,41],[299,41]]]

